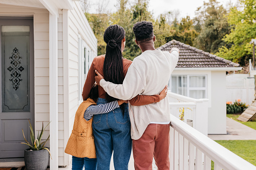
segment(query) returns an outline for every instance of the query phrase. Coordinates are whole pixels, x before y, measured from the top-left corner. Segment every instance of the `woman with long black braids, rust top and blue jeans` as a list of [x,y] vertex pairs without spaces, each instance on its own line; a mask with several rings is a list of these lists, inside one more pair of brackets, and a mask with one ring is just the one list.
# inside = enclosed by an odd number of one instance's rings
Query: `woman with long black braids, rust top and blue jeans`
[[[125,31],[123,27],[118,25],[109,26],[104,33],[104,41],[107,44],[106,55],[98,56],[93,60],[83,86],[83,100],[87,100],[90,89],[95,83],[95,70],[104,75],[105,80],[115,84],[122,84],[127,70],[132,63],[122,56],[125,47]],[[159,95],[138,95],[129,100],[129,102],[131,105],[146,105],[159,102],[160,99],[162,98]],[[106,94],[104,89],[99,86],[97,104],[104,104],[114,100],[117,99]],[[93,132],[98,170],[110,168],[113,151],[115,169],[128,169],[132,144],[130,128],[127,103],[122,104],[120,108],[116,108],[109,113],[94,115]]]

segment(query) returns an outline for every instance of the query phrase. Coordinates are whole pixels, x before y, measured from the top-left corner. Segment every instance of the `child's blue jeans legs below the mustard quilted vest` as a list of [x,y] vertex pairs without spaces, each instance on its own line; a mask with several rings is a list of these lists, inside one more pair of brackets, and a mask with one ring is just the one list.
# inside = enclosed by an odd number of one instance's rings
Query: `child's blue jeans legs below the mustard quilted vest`
[[97,158],[72,156],[72,170],[82,170],[83,166],[85,170],[96,170]]

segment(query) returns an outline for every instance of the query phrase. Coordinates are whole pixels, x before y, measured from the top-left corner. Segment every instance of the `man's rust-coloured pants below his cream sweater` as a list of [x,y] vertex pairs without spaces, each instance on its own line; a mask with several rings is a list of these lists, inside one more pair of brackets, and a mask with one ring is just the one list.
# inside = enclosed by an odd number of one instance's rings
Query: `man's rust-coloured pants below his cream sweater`
[[149,124],[138,140],[132,140],[136,170],[152,169],[153,157],[159,170],[170,168],[169,124]]

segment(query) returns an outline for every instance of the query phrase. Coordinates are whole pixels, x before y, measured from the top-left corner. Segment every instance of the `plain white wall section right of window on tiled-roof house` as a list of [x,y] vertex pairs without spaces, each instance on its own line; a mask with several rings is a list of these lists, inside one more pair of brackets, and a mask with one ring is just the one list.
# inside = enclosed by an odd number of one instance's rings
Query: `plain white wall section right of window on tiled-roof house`
[[208,111],[208,133],[226,134],[226,72],[212,71],[212,107]]

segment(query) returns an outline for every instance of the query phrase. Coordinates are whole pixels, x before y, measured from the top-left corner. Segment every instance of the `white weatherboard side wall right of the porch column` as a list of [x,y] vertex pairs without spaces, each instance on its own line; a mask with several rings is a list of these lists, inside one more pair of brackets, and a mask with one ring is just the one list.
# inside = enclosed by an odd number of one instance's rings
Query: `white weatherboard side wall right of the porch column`
[[[68,125],[68,130],[63,131],[64,133],[59,134],[59,165],[61,163],[61,159],[62,159],[62,155],[64,154],[64,146],[66,145],[67,139],[71,133],[72,127],[73,127],[73,122],[74,122],[74,116],[75,116],[75,112],[78,108],[78,94],[79,90],[78,90],[78,82],[79,82],[79,77],[78,77],[78,61],[79,61],[79,53],[78,53],[78,37],[80,36],[81,39],[83,39],[87,46],[92,50],[94,56],[96,56],[97,54],[97,39],[94,36],[94,33],[86,19],[86,17],[84,16],[79,2],[74,2],[74,6],[73,6],[73,10],[71,11],[65,11],[63,10],[63,27],[65,27],[65,20],[67,20],[67,25],[68,25],[68,29],[67,29],[67,46],[68,46],[68,50],[67,50],[67,54],[68,56],[66,56],[67,59],[67,63],[65,63],[66,59],[61,60],[59,59],[59,62],[64,62],[64,68],[67,67],[68,69],[68,74],[64,74],[64,79],[67,78],[68,80],[68,88],[67,90],[64,91],[64,94],[66,92],[68,92],[68,99],[63,98],[63,96],[61,96],[61,94],[59,93],[59,99],[63,99],[62,101],[64,101],[64,106],[62,105],[62,103],[60,103],[59,101],[59,106],[61,108],[59,108],[59,123],[60,123],[60,118],[63,116],[68,116],[68,119],[66,119],[66,117],[64,117],[64,121],[68,121],[65,123],[62,123],[61,125],[59,125],[59,130],[60,128],[62,128],[63,124],[65,124],[65,126]],[[64,17],[67,17],[64,18]],[[59,17],[59,22],[60,22],[60,17]],[[58,24],[59,27],[60,24]],[[65,31],[63,30],[63,39],[65,38],[66,35],[64,35]],[[59,33],[60,35],[60,29],[59,29]],[[66,40],[66,39],[65,39]],[[63,40],[63,46],[65,45],[66,42],[64,42],[65,40]],[[60,43],[60,40],[59,40]],[[63,48],[63,52],[65,51],[65,48]],[[58,50],[58,52],[60,53],[60,49]],[[65,57],[65,54],[63,54]],[[62,56],[63,56],[62,55]],[[60,76],[60,72],[63,73],[63,65],[59,64],[59,83],[63,83],[64,82],[64,86],[65,86],[65,80],[63,81],[63,79]],[[65,70],[64,70],[65,73]],[[62,74],[63,76],[63,74]],[[65,77],[67,76],[67,77]],[[64,87],[66,88],[66,87]],[[59,84],[59,92],[61,92],[61,90],[63,90],[63,88],[60,87]],[[63,93],[62,93],[63,94]],[[68,103],[65,103],[68,102]],[[65,107],[65,105],[67,105],[67,107]],[[63,109],[63,113],[60,112],[60,109],[62,108],[67,108]],[[64,127],[65,128],[65,127]],[[63,136],[62,136],[63,135]],[[62,144],[62,139],[63,139],[63,144]],[[61,147],[63,148],[63,150],[61,149]],[[65,154],[65,158],[64,158],[64,164],[63,165],[68,165],[70,162],[70,156]]]

